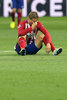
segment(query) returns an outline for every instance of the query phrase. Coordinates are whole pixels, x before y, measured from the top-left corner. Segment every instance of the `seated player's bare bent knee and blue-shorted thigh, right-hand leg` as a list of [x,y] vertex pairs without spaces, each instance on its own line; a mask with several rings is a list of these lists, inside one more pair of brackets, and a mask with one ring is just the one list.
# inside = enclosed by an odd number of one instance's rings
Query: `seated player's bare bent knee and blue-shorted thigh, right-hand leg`
[[42,48],[44,34],[40,34],[31,44],[26,46],[26,54],[36,54]]

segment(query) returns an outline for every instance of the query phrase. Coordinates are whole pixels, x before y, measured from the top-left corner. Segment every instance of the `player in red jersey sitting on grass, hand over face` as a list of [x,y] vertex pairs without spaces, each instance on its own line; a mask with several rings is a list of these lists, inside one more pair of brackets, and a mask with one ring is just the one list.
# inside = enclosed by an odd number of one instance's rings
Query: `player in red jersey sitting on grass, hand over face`
[[[37,12],[30,12],[28,20],[22,21],[18,26],[18,43],[15,46],[15,51],[19,55],[36,54],[41,48],[42,43],[46,46],[46,52],[53,52],[58,55],[62,52],[62,48],[55,49],[49,32],[38,21]],[[41,32],[37,37],[38,31]]]

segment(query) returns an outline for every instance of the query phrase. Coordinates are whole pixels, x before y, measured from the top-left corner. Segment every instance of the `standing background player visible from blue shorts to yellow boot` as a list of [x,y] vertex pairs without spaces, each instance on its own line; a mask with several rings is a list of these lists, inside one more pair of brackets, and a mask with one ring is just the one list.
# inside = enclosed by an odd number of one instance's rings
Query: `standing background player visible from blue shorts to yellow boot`
[[17,25],[19,25],[22,17],[22,9],[24,7],[24,0],[12,0],[12,22],[10,23],[10,28],[15,28],[15,12],[17,11]]

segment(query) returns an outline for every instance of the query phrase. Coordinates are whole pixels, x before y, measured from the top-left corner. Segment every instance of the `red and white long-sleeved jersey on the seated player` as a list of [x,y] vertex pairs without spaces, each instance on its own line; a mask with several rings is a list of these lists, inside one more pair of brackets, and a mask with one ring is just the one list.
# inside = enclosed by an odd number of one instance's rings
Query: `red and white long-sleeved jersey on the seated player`
[[17,29],[18,29],[18,36],[26,35],[27,44],[32,43],[32,41],[36,39],[38,31],[41,31],[45,35],[48,43],[51,42],[51,37],[49,32],[44,28],[44,26],[40,22],[37,22],[37,27],[35,31],[32,30],[32,27],[29,25],[27,20],[22,21],[19,24],[19,26],[17,26]]

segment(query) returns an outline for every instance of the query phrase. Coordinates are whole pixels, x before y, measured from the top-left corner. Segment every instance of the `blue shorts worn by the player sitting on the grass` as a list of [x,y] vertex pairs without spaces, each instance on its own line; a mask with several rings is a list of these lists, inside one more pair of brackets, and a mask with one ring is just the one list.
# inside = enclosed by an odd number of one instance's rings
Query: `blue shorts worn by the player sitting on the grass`
[[[41,45],[40,48],[37,48],[37,47],[35,46],[34,41],[33,41],[31,44],[27,45],[27,47],[26,47],[26,54],[30,54],[30,55],[36,54],[41,48],[42,48],[42,45]],[[21,49],[20,49],[20,47],[19,47],[19,45],[18,45],[18,43],[17,43],[17,44],[16,44],[16,49],[15,49],[15,51],[16,51],[18,54],[20,54],[20,50],[21,50]]]

